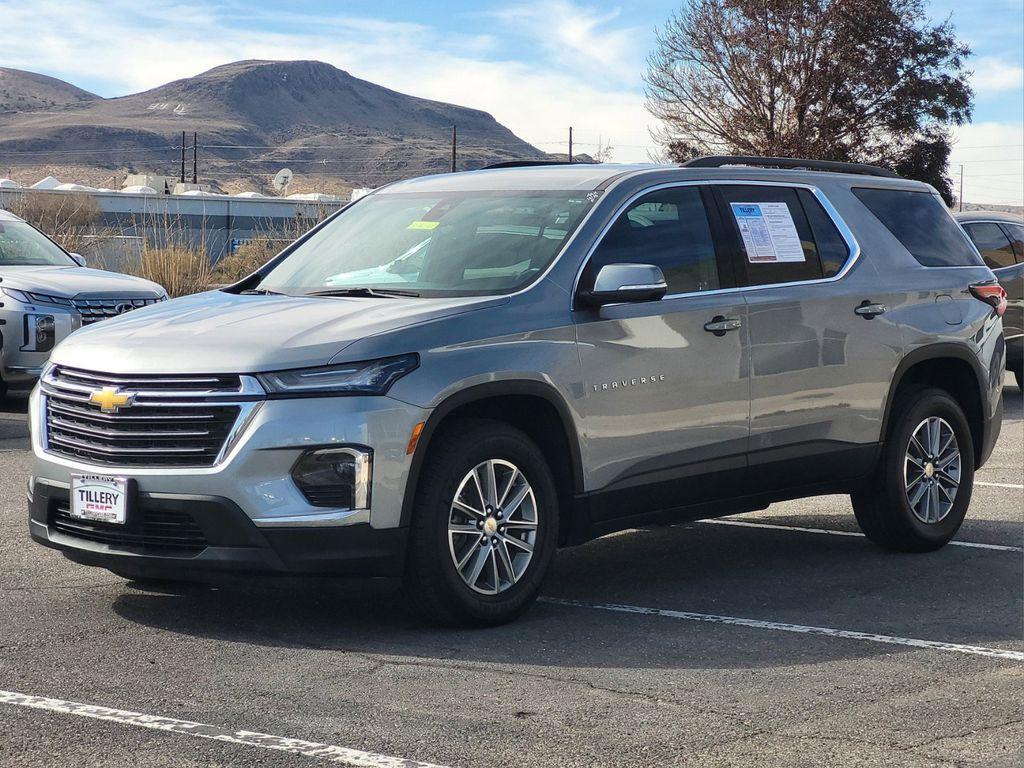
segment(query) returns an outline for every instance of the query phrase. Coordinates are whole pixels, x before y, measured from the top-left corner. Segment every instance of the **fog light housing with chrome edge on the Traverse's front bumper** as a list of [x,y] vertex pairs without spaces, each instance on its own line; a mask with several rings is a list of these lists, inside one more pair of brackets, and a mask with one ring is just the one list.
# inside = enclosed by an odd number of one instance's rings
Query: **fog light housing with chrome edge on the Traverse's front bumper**
[[292,479],[314,507],[370,509],[372,465],[369,449],[316,449],[299,457]]

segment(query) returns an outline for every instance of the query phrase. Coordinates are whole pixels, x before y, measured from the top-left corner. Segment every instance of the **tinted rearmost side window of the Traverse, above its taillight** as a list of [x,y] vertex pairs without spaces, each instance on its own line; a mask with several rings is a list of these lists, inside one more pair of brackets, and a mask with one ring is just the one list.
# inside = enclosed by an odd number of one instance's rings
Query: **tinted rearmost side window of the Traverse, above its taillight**
[[981,266],[942,200],[931,193],[854,188],[853,194],[925,266]]

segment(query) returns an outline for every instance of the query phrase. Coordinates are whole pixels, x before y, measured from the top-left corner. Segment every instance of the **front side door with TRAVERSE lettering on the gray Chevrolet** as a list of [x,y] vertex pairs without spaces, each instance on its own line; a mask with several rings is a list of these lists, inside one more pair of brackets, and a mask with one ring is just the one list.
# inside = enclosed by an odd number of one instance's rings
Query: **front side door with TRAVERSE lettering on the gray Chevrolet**
[[596,522],[738,487],[750,409],[746,308],[728,290],[735,278],[721,239],[708,188],[669,186],[628,205],[583,271],[586,289],[604,264],[655,264],[669,284],[662,300],[574,311]]

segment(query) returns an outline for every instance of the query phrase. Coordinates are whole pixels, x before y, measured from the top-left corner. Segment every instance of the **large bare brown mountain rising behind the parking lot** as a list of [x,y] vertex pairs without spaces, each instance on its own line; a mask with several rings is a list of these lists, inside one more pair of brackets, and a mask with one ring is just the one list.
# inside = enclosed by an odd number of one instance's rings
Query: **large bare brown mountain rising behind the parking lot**
[[206,178],[263,178],[287,165],[297,175],[379,184],[447,170],[453,125],[460,168],[546,157],[484,112],[399,93],[321,61],[236,61],[128,96],[80,93],[45,112],[0,115],[3,167],[20,152],[37,153],[29,156],[37,164],[174,174],[185,131],[189,145],[199,134]]

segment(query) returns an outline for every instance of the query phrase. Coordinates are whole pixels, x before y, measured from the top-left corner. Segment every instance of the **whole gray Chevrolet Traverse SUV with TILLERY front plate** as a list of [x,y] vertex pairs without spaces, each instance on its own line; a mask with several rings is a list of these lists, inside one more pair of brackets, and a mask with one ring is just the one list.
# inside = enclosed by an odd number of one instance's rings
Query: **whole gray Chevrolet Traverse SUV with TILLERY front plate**
[[402,577],[478,625],[559,546],[785,499],[850,494],[873,542],[933,550],[999,431],[1005,307],[935,190],[882,169],[402,181],[61,343],[30,528],[131,579]]

